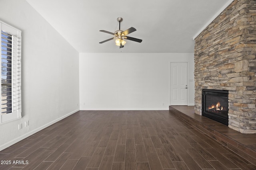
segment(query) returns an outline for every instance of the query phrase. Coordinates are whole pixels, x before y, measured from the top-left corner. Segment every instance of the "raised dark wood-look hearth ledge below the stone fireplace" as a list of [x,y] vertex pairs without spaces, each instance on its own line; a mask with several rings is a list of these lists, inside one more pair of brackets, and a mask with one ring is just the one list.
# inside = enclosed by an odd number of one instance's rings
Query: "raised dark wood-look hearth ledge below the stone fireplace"
[[[189,109],[187,109],[189,107]],[[190,111],[191,109],[191,111]],[[193,110],[193,111],[192,111]],[[233,152],[237,153],[238,155],[242,156],[244,159],[248,160],[252,164],[256,165],[256,149],[255,147],[250,148],[249,145],[247,146],[246,143],[238,142],[237,138],[240,136],[240,138],[244,138],[244,135],[249,135],[247,138],[255,139],[255,134],[242,134],[238,131],[231,129],[228,133],[222,133],[221,131],[218,131],[218,125],[222,127],[226,127],[227,131],[229,131],[228,127],[225,125],[222,125],[219,122],[216,122],[212,119],[209,119],[208,117],[201,116],[199,114],[194,113],[194,108],[191,108],[190,106],[169,106],[169,112],[171,114],[176,115],[186,123],[189,123],[190,125],[193,125],[195,128],[200,129],[202,132],[206,133],[209,137],[212,139],[218,141],[222,145],[224,145],[227,149],[232,150]],[[210,124],[212,122],[212,124]],[[213,125],[215,124],[215,125]],[[216,124],[218,124],[216,126]],[[212,126],[211,126],[212,125]],[[215,129],[217,128],[217,129]],[[223,130],[223,129],[222,129]],[[232,137],[233,136],[233,137]]]

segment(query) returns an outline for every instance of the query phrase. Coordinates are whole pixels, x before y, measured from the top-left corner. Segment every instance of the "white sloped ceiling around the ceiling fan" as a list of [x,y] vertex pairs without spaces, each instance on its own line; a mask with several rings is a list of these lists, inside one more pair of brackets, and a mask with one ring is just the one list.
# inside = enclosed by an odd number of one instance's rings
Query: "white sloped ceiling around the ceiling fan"
[[[80,53],[193,53],[193,37],[232,0],[26,0]],[[119,49],[119,29],[134,27]]]

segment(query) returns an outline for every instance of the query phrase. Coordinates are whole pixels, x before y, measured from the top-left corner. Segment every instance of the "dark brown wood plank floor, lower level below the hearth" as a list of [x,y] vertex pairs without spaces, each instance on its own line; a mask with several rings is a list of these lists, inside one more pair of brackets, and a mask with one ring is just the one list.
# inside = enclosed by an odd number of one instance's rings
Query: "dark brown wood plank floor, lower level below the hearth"
[[168,110],[78,111],[0,151],[0,160],[0,170],[256,169]]

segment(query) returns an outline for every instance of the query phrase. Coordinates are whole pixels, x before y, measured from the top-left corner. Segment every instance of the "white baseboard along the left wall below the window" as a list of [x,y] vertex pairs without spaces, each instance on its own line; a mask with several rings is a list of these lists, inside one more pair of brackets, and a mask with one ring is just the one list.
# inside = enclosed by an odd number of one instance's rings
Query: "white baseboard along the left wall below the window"
[[1,145],[1,146],[0,146],[0,151],[1,151],[1,150],[4,150],[4,149],[6,149],[6,148],[8,148],[8,147],[10,147],[10,146],[12,146],[13,144],[15,144],[15,143],[17,143],[17,142],[19,142],[19,141],[21,141],[21,140],[27,138],[27,137],[29,137],[30,135],[33,135],[34,133],[36,133],[36,132],[38,132],[38,131],[41,131],[41,130],[44,129],[44,128],[46,128],[46,127],[48,127],[48,126],[50,126],[50,125],[52,125],[52,124],[54,124],[54,123],[56,123],[56,122],[58,122],[58,121],[64,119],[64,118],[66,118],[66,117],[68,117],[68,116],[70,116],[70,115],[72,115],[72,114],[74,114],[74,113],[76,113],[76,112],[79,111],[79,110],[80,110],[80,109],[74,110],[74,111],[72,111],[72,112],[70,112],[70,113],[68,113],[68,114],[66,114],[66,115],[64,115],[64,116],[62,116],[62,117],[60,117],[60,118],[58,118],[58,119],[55,119],[54,121],[51,121],[51,122],[49,122],[49,123],[47,123],[47,124],[45,124],[45,125],[43,125],[43,126],[41,126],[41,127],[38,127],[37,129],[34,129],[33,131],[30,131],[30,132],[28,132],[28,133],[26,133],[26,134],[24,134],[24,135],[22,135],[22,136],[20,136],[20,137],[18,137],[18,138],[16,138],[16,139],[13,139],[12,141],[10,141],[10,142],[8,142],[8,143],[5,143],[5,144]]

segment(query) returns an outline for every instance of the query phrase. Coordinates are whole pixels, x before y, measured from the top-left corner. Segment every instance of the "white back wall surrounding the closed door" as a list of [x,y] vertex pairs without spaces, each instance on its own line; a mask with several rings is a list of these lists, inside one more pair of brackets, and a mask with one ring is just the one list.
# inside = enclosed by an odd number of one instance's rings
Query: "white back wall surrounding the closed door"
[[170,62],[184,61],[194,105],[193,53],[80,53],[80,109],[168,110]]

